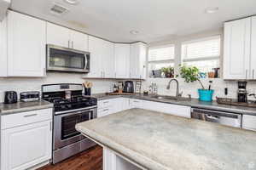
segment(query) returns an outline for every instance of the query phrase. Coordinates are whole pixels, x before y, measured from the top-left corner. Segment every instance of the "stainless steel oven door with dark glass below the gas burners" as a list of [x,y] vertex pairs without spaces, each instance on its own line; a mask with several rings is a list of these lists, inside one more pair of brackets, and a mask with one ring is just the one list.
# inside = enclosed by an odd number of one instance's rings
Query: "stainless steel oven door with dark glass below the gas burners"
[[96,109],[72,111],[62,115],[54,116],[54,150],[60,149],[68,144],[73,144],[84,136],[76,129],[75,125],[92,119]]

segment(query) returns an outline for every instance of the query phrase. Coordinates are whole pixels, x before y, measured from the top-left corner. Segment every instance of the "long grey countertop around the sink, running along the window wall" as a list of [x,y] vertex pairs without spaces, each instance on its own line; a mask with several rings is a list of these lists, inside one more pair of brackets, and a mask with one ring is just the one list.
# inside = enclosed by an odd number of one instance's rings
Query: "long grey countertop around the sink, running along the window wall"
[[219,105],[216,101],[204,102],[199,99],[191,99],[189,101],[173,100],[173,99],[155,99],[150,96],[144,96],[143,94],[134,94],[134,95],[108,95],[108,94],[93,94],[93,97],[98,100],[102,99],[115,99],[115,98],[131,98],[131,99],[144,99],[148,101],[156,101],[163,103],[170,103],[174,105],[186,105],[201,109],[210,109],[215,111],[228,111],[237,114],[252,115],[256,116],[256,108],[244,107],[244,106],[235,106],[235,105]]

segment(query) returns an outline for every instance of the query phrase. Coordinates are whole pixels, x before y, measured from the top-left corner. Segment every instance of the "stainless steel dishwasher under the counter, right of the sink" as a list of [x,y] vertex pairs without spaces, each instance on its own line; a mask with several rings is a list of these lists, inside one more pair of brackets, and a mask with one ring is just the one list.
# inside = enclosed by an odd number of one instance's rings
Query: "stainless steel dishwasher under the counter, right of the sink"
[[241,114],[192,108],[191,118],[206,122],[216,122],[230,127],[241,127]]

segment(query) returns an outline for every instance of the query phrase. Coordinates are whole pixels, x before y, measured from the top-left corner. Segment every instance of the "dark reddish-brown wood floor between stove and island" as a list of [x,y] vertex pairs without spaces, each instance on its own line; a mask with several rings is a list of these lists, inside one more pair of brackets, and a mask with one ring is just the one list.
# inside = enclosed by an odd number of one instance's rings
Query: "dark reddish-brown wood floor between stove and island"
[[96,145],[77,156],[55,165],[41,167],[38,170],[102,170],[102,147]]

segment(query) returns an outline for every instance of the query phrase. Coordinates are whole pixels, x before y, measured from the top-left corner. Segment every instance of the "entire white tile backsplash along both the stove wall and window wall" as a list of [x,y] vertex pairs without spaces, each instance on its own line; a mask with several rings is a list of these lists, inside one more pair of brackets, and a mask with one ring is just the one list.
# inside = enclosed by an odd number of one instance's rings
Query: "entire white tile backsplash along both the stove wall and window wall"
[[[201,88],[199,82],[184,82],[182,78],[177,78],[179,82],[179,91],[183,92],[184,97],[188,97],[191,94],[192,98],[198,98],[197,89]],[[208,88],[209,81],[212,80],[212,89],[214,89],[213,99],[218,97],[236,98],[237,81],[224,81],[223,79],[202,79],[201,82],[205,88]],[[84,79],[81,74],[75,73],[59,73],[51,72],[44,78],[0,78],[0,102],[3,102],[4,91],[14,90],[17,93],[24,91],[41,91],[42,84],[50,83],[82,83],[93,82],[92,94],[111,92],[113,88],[113,80],[96,80],[96,79]],[[143,90],[148,90],[148,86],[153,82],[158,86],[158,94],[160,95],[175,95],[176,83],[172,82],[171,88],[166,89],[166,86],[170,78],[148,78],[143,81]],[[228,95],[225,96],[224,88],[228,88]],[[247,82],[248,94],[256,94],[256,82]],[[253,97],[248,97],[253,99]]]

